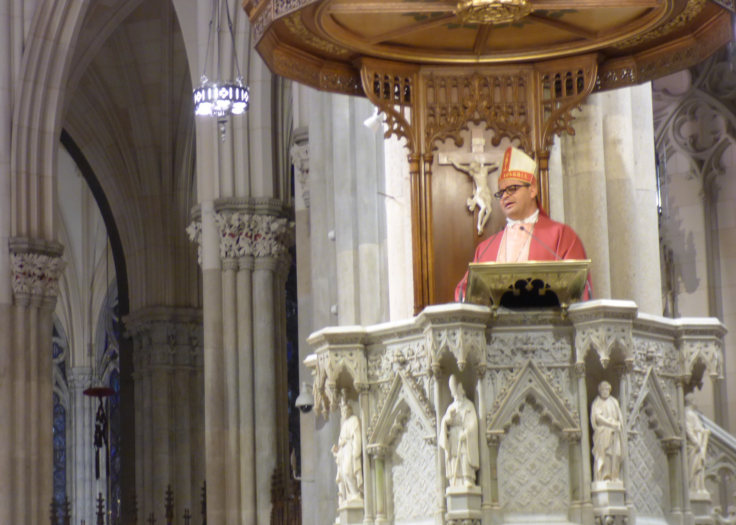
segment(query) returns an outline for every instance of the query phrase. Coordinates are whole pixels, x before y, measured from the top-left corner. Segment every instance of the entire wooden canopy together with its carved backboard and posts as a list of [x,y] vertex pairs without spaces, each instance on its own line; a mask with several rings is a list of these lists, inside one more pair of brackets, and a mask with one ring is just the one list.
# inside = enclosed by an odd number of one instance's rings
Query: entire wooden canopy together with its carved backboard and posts
[[473,154],[485,154],[486,140],[523,149],[537,160],[549,210],[549,149],[554,135],[574,134],[573,110],[594,90],[700,63],[732,40],[734,1],[244,0],[244,8],[272,71],[367,96],[386,115],[385,136],[406,139],[419,312],[453,300],[489,235],[476,231],[478,208],[467,209],[473,183],[442,165],[440,147],[467,151],[473,124]]

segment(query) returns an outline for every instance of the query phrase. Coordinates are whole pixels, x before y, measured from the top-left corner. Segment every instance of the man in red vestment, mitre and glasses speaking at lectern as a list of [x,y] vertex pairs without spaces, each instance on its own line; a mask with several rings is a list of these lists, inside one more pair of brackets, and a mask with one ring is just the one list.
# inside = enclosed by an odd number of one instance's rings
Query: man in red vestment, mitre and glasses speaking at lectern
[[[567,224],[553,221],[539,204],[537,162],[516,148],[506,149],[498,176],[501,210],[506,226],[475,249],[473,262],[526,262],[587,259],[583,243]],[[455,300],[465,296],[467,271],[455,289]],[[583,299],[592,299],[590,275]]]

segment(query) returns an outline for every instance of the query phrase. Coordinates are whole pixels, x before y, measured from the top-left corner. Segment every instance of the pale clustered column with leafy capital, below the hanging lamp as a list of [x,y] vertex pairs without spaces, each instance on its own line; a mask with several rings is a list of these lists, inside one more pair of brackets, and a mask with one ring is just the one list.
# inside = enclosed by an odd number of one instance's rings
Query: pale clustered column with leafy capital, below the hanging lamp
[[[202,226],[197,215],[188,232],[202,247],[205,286],[208,521],[268,525],[272,484],[289,476],[284,288],[294,224],[275,199],[216,199],[202,207]],[[221,507],[210,511],[215,493]]]

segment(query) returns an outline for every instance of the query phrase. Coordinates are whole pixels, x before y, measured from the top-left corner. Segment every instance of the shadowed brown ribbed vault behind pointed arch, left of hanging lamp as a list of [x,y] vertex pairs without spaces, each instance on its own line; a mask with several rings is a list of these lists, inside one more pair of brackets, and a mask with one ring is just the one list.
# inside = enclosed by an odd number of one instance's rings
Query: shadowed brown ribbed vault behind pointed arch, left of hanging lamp
[[197,306],[191,76],[170,0],[93,0],[66,90],[63,127],[110,201],[130,308]]

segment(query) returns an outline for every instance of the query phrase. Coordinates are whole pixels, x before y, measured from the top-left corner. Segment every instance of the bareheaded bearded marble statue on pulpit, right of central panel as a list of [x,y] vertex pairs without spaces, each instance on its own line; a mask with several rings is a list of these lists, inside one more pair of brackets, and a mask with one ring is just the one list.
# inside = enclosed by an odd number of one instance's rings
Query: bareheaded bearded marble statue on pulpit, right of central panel
[[590,407],[590,423],[593,427],[593,481],[620,481],[621,429],[623,415],[618,401],[611,396],[611,384],[598,385],[599,396]]

